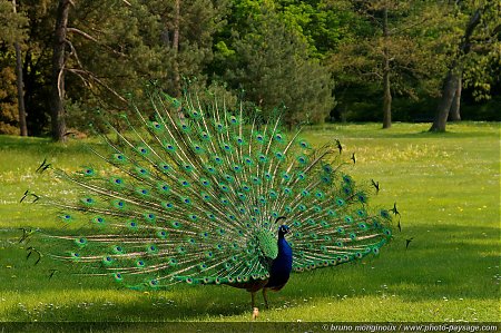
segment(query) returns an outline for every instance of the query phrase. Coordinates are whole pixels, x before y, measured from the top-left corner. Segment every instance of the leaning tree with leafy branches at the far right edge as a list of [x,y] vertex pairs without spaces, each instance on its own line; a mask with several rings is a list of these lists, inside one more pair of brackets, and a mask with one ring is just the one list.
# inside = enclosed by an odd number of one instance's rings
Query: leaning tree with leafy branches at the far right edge
[[[452,12],[455,31],[449,46],[448,72],[430,131],[444,131],[453,98],[464,82],[475,99],[489,99],[499,84],[501,6],[495,1],[456,2]],[[445,48],[448,49],[448,48]]]

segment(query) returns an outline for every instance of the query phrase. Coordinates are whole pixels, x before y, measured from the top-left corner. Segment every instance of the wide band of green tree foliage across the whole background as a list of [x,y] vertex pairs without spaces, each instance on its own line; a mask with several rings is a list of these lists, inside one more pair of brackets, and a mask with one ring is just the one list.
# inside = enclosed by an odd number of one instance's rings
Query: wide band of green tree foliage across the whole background
[[[484,106],[495,108],[499,100],[495,1],[67,2],[63,75],[55,77],[58,1],[18,0],[14,13],[11,0],[0,0],[0,133],[19,126],[16,41],[30,135],[50,133],[58,77],[70,133],[85,130],[97,109],[114,115],[129,96],[146,100],[149,82],[174,96],[186,85],[232,102],[243,96],[263,117],[279,111],[288,126],[332,116],[381,120],[385,114],[385,124],[426,118],[449,72],[462,79],[470,105],[493,97]],[[464,29],[479,9],[464,52]]]

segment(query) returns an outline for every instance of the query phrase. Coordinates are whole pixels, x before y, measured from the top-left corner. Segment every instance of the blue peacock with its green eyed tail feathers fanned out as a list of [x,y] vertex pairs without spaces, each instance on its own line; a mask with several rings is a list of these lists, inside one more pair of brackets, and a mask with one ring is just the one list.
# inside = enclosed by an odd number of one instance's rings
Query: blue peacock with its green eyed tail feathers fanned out
[[157,91],[148,105],[98,131],[102,144],[90,149],[104,166],[68,173],[43,161],[39,170],[72,192],[24,193],[56,207],[60,224],[24,229],[23,241],[42,239],[30,254],[132,290],[245,288],[254,308],[258,291],[268,307],[267,292],[292,272],[374,256],[391,239],[392,210],[367,204],[379,183],[358,185],[344,172],[356,160],[343,159],[338,140],[315,149],[301,128],[283,130],[279,114],[262,121],[242,104],[232,110],[195,92]]

